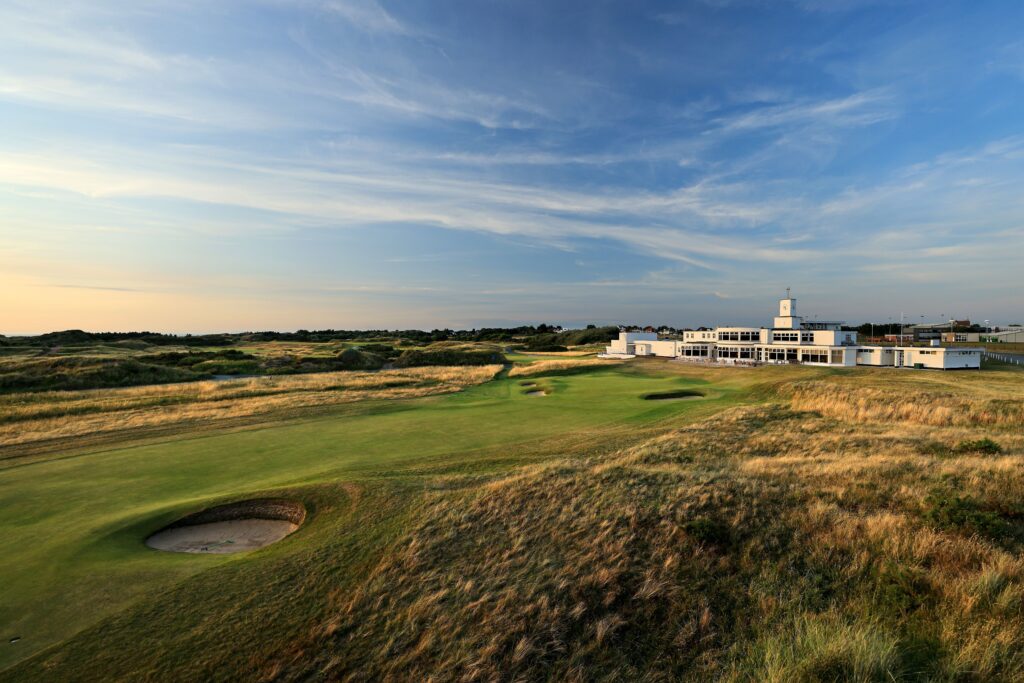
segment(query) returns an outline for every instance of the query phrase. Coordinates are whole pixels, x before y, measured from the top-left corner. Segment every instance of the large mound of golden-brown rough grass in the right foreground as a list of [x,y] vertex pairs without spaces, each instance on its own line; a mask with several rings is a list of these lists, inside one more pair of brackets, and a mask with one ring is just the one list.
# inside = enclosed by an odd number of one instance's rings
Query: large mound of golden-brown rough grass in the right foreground
[[[270,665],[285,680],[1021,680],[1024,435],[730,409],[607,456],[438,495]],[[1018,545],[1015,545],[1018,544]],[[930,648],[930,649],[929,649]]]

